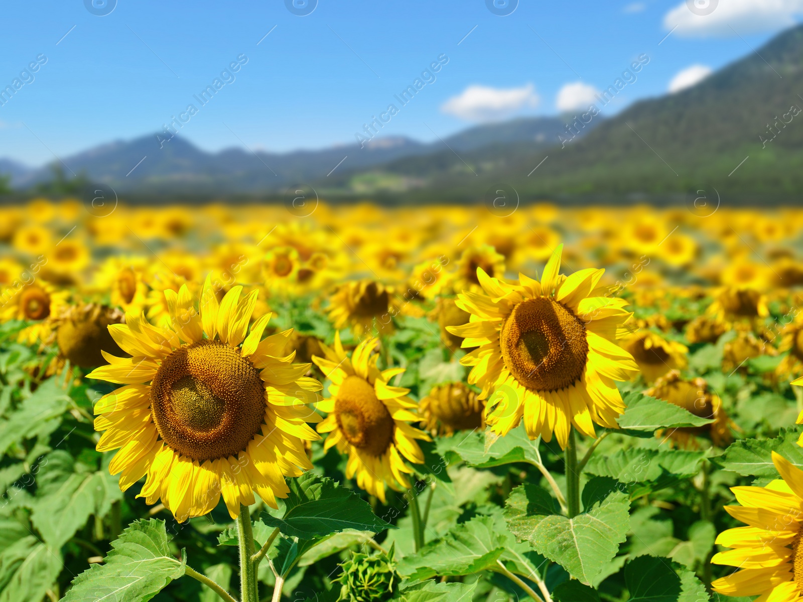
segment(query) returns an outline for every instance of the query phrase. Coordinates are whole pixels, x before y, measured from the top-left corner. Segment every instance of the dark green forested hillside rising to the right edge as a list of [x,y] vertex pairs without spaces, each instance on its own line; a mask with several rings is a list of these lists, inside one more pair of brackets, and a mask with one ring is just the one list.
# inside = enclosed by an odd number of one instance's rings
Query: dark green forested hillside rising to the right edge
[[[389,200],[477,200],[487,186],[504,182],[525,198],[625,198],[716,188],[740,200],[797,202],[803,193],[801,109],[803,26],[693,88],[634,104],[565,148],[510,143],[459,156],[444,150],[399,158],[369,173],[341,173],[340,190],[329,192],[349,195],[370,178],[409,178],[412,185],[404,192],[377,194]],[[773,134],[772,141],[763,141]]]

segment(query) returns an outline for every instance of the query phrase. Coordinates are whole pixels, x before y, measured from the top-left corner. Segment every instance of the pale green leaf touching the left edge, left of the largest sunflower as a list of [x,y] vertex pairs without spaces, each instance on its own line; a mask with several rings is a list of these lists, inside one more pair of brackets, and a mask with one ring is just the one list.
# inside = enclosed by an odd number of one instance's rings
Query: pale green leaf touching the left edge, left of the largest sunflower
[[40,434],[52,432],[70,403],[70,397],[56,383],[55,376],[39,385],[30,397],[23,399],[9,416],[0,417],[0,455],[11,444]]

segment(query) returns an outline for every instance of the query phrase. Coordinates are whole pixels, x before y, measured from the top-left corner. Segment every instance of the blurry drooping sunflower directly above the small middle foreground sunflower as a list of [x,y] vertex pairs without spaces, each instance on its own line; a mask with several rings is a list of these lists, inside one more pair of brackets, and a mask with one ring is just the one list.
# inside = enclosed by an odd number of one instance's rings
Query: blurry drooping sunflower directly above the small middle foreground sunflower
[[392,288],[364,279],[340,285],[329,298],[326,311],[335,330],[350,326],[361,337],[373,329],[380,334],[392,332],[391,318],[398,313],[398,306]]

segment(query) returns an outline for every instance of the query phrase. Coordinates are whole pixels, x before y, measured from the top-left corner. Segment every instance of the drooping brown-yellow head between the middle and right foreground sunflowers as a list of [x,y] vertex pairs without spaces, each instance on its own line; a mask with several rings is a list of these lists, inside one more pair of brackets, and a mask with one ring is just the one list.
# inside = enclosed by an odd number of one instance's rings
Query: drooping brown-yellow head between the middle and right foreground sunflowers
[[465,383],[432,387],[421,400],[419,413],[426,430],[451,435],[456,431],[481,428],[485,404]]

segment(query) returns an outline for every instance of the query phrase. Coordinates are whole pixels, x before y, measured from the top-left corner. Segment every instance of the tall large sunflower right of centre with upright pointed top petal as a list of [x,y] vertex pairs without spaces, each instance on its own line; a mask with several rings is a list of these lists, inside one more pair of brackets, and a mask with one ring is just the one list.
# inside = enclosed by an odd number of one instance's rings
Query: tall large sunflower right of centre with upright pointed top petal
[[[485,293],[464,291],[457,305],[471,321],[446,330],[479,347],[460,362],[473,366],[470,384],[487,399],[485,420],[504,435],[524,418],[528,435],[565,447],[572,424],[594,436],[593,423],[618,428],[624,411],[615,381],[638,372],[633,357],[618,346],[630,329],[626,301],[603,297],[597,288],[605,270],[588,268],[562,276],[560,245],[541,281],[520,274],[509,285],[477,270]],[[497,395],[499,394],[499,395]]]

